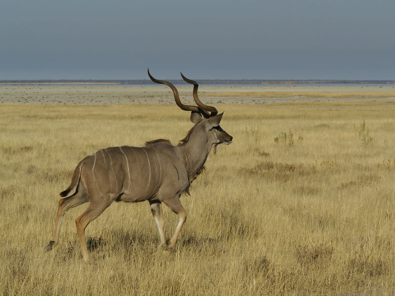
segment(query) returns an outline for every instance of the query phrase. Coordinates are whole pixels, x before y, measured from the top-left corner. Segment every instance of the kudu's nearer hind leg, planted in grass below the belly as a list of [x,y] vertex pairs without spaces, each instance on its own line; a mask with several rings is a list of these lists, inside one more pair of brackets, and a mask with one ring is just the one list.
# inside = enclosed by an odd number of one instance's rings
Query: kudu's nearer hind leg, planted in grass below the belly
[[[106,198],[103,198],[104,202]],[[87,261],[89,259],[88,255],[88,249],[86,248],[86,242],[85,242],[85,228],[86,226],[95,220],[97,217],[100,216],[101,213],[111,204],[111,202],[108,203],[100,203],[100,202],[90,202],[88,208],[85,210],[85,212],[82,213],[81,216],[79,216],[76,219],[76,226],[77,226],[77,234],[78,234],[78,239],[79,239],[79,244],[81,245],[81,253],[82,253],[82,258],[84,261]]]

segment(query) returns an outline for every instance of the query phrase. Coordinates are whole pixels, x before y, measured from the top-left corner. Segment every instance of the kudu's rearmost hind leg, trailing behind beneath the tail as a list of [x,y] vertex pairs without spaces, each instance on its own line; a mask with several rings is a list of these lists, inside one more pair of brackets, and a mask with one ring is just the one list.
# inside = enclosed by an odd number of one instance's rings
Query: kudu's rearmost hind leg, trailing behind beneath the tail
[[44,253],[51,251],[59,242],[60,227],[62,226],[63,216],[71,208],[77,207],[85,202],[89,198],[86,195],[72,195],[59,200],[58,213],[56,215],[55,230],[53,233],[53,240],[49,241],[49,244],[44,248]]

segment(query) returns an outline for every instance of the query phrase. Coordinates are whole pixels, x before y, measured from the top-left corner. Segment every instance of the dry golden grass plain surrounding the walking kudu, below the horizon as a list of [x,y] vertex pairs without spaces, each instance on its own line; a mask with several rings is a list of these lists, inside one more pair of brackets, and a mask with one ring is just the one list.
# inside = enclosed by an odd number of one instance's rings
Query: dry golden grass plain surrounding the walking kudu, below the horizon
[[[175,249],[158,248],[148,202],[118,202],[86,228],[89,262],[74,222],[87,204],[66,213],[44,254],[58,193],[84,156],[177,144],[192,127],[165,86],[130,104],[126,91],[106,104],[108,87],[0,87],[1,295],[395,295],[395,94],[379,90],[203,90],[234,141],[181,198]],[[76,93],[89,100],[65,101]],[[163,210],[169,238],[178,218]]]

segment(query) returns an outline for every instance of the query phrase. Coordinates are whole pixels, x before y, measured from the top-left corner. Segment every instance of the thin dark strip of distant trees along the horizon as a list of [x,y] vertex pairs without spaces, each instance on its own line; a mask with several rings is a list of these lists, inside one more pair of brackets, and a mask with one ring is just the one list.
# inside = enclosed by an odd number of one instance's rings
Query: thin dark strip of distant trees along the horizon
[[[185,84],[181,79],[169,80],[173,84]],[[395,80],[262,80],[262,79],[197,79],[199,84],[395,84]],[[155,84],[149,79],[131,80],[0,80],[0,84]]]

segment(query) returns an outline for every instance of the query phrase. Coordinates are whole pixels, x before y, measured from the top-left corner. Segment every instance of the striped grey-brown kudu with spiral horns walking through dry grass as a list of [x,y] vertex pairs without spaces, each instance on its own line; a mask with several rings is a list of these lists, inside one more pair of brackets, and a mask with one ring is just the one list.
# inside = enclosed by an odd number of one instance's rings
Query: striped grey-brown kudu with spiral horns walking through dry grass
[[[114,201],[141,202],[147,200],[157,224],[160,248],[174,248],[187,214],[180,202],[183,193],[189,193],[191,183],[204,169],[210,151],[232,143],[233,137],[219,123],[223,113],[200,102],[196,81],[182,78],[194,85],[193,97],[197,106],[184,105],[176,87],[168,81],[148,75],[155,83],[169,86],[177,106],[191,111],[194,126],[177,146],[169,140],[146,142],[143,147],[118,146],[102,148],[82,159],[74,170],[71,184],[60,193],[53,240],[44,248],[52,250],[59,242],[60,227],[65,213],[71,208],[90,202],[76,219],[82,258],[89,259],[85,242],[85,228]],[[68,196],[71,194],[70,196]],[[179,216],[172,237],[166,244],[162,202]]]

